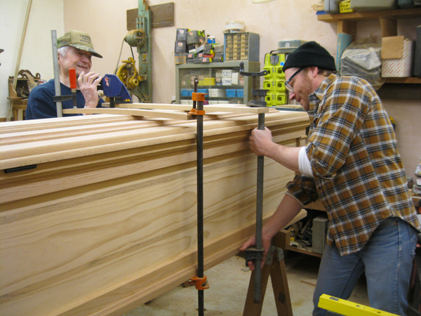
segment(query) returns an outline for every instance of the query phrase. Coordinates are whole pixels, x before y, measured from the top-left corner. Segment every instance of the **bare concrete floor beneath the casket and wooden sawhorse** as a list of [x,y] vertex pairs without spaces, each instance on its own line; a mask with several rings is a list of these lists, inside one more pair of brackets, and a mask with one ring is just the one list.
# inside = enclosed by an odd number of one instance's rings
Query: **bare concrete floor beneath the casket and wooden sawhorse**
[[[285,260],[293,314],[312,315],[313,291],[320,258],[288,251]],[[205,316],[243,315],[250,271],[239,256],[229,258],[205,272],[210,288],[204,291]],[[349,301],[368,305],[366,286],[361,279]],[[277,315],[272,283],[267,287],[262,315]],[[181,285],[154,298],[123,316],[196,316],[197,290]]]

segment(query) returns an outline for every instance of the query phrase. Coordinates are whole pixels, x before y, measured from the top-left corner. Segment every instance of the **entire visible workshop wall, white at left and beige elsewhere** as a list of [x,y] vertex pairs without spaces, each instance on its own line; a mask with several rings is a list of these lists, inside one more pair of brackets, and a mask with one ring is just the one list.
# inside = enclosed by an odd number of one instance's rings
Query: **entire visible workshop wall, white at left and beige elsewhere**
[[[29,69],[32,73],[39,72],[43,79],[53,78],[51,29],[57,29],[58,37],[70,29],[79,29],[90,34],[95,50],[104,56],[102,59],[93,58],[92,70],[100,74],[114,73],[117,62],[121,63],[121,60],[131,56],[128,44],[124,43],[122,46],[122,43],[127,34],[126,11],[138,8],[138,0],[33,1],[21,69]],[[2,29],[10,30],[0,39],[0,48],[5,49],[5,52],[0,54],[0,117],[6,117],[6,81],[15,70],[27,2],[28,0],[0,0]],[[251,0],[147,0],[149,6],[168,2],[174,3],[175,25],[152,29],[154,103],[171,103],[175,96],[173,51],[177,28],[204,29],[206,34],[215,36],[216,41],[222,43],[225,22],[244,21],[246,32],[260,34],[261,65],[264,63],[265,53],[275,50],[281,39],[314,40],[335,56],[336,24],[317,21],[316,13],[312,9],[316,0],[278,0],[266,4],[253,4]],[[415,36],[413,29],[415,25],[419,25],[419,19],[415,19],[415,22],[411,20],[414,19],[398,21],[399,34],[406,37]],[[410,27],[408,23],[412,23]],[[380,39],[380,22],[359,22],[356,31],[357,38],[373,35]],[[13,49],[9,48],[10,46]],[[137,60],[135,49],[133,52]],[[399,150],[407,175],[413,176],[421,156],[421,139],[420,127],[415,127],[416,132],[410,131],[410,126],[420,126],[416,118],[421,104],[419,101],[385,100],[385,105],[397,125]]]

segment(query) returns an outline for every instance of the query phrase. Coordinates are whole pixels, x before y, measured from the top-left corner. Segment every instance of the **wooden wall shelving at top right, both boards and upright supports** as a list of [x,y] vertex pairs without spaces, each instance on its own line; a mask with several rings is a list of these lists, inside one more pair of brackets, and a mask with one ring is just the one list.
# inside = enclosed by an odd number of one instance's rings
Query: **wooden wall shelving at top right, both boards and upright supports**
[[[356,34],[356,22],[380,20],[382,37],[395,37],[397,35],[397,21],[407,18],[421,18],[421,8],[317,15],[317,20],[319,21],[327,23],[337,22],[336,32],[351,34],[353,39],[355,39]],[[386,83],[421,84],[421,78],[387,78]]]

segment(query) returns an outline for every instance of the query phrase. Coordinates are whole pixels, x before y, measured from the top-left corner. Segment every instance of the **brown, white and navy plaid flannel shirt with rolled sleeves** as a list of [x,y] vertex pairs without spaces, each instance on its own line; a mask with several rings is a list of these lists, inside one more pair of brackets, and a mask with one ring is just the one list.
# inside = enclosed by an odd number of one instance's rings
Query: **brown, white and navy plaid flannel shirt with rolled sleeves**
[[373,87],[331,74],[309,101],[306,152],[314,178],[298,174],[287,187],[302,204],[321,199],[328,244],[342,256],[359,251],[390,216],[420,230],[394,130]]

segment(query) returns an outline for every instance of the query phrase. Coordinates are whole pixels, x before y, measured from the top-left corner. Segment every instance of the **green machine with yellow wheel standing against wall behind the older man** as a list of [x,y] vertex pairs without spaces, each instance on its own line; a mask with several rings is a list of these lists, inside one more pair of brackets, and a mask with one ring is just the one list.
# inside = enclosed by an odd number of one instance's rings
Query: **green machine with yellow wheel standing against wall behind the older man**
[[[116,67],[115,74],[140,103],[152,103],[152,14],[147,10],[145,2],[139,0],[137,29],[131,29],[123,40],[131,47],[132,57],[122,60],[123,65]],[[139,54],[138,70],[135,67],[133,47],[137,48]]]

